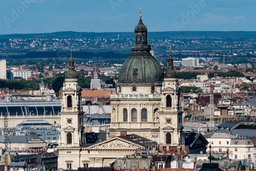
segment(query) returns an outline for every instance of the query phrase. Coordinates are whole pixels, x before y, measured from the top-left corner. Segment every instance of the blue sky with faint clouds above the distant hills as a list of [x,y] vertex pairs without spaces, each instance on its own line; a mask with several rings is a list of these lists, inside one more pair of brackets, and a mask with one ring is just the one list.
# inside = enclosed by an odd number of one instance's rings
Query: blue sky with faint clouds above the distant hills
[[0,34],[256,31],[255,0],[0,0]]

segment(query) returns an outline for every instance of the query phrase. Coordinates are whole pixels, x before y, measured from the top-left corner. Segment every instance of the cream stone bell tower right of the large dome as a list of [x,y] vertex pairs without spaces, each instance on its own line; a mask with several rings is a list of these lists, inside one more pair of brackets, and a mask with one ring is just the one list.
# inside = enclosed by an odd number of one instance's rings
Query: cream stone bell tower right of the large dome
[[161,89],[160,144],[178,146],[181,144],[182,110],[180,105],[180,90],[177,74],[173,66],[170,47],[167,71],[164,73]]

